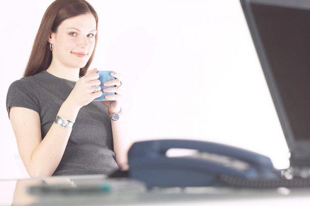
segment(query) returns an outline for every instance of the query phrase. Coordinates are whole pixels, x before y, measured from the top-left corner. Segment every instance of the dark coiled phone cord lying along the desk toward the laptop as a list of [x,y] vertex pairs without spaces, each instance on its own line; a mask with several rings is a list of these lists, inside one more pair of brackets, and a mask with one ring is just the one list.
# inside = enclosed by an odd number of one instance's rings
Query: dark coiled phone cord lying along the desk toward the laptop
[[277,180],[266,180],[266,179],[245,179],[233,177],[227,174],[218,175],[218,180],[228,187],[234,188],[307,188],[310,187],[310,178],[294,178],[294,179],[277,179]]

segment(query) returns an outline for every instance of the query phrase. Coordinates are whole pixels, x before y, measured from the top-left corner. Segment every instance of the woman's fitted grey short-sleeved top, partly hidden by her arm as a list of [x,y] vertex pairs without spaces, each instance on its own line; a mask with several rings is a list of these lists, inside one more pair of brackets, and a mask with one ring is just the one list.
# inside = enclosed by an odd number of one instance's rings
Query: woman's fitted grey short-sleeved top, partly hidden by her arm
[[[16,106],[38,112],[44,139],[75,84],[75,81],[58,78],[47,71],[23,77],[9,87],[7,111]],[[110,174],[117,169],[109,114],[100,101],[93,101],[78,112],[63,157],[53,175]]]

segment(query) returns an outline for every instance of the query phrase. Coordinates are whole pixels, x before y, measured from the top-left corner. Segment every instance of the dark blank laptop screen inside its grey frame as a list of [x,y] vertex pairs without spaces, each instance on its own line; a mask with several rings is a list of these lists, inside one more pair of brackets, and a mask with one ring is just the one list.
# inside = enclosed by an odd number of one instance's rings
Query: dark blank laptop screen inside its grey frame
[[310,140],[310,11],[251,5],[296,140]]

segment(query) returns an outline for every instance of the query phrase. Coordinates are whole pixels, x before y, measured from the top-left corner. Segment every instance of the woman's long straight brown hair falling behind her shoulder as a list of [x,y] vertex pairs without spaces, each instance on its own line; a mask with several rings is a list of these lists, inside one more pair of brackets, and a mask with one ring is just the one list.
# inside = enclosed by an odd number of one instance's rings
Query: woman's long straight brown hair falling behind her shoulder
[[[24,77],[35,75],[46,70],[52,62],[52,51],[47,41],[51,32],[57,32],[59,25],[65,19],[82,14],[93,14],[96,20],[96,30],[98,28],[98,15],[86,0],[55,0],[47,8],[35,37],[29,61],[26,66]],[[79,75],[85,75],[89,65],[93,61],[93,55],[97,45],[97,35],[95,35],[95,47],[89,61],[83,68],[80,68]]]

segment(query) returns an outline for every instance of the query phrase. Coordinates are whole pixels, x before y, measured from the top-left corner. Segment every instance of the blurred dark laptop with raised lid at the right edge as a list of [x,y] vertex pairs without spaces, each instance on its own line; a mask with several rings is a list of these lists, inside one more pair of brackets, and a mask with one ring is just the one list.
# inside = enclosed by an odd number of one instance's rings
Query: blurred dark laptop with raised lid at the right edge
[[310,175],[310,0],[240,2],[291,152],[290,167]]

